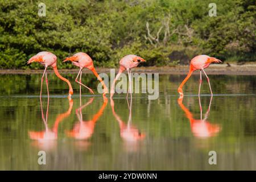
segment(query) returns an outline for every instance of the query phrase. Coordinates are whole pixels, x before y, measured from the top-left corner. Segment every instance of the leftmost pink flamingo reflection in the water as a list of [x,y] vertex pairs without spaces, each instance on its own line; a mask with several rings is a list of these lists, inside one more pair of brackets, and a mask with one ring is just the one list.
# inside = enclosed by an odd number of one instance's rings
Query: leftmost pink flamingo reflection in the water
[[42,112],[42,119],[44,122],[44,126],[46,127],[46,130],[44,130],[44,131],[28,131],[28,134],[30,136],[30,139],[37,141],[35,143],[37,146],[42,146],[45,148],[52,148],[55,146],[54,140],[57,139],[59,123],[71,114],[71,110],[73,107],[73,100],[69,100],[69,108],[65,113],[57,115],[57,118],[55,120],[55,123],[54,123],[52,129],[49,129],[49,127],[48,127],[49,97],[47,98],[46,117],[44,117],[43,106],[42,106],[42,97],[40,97],[40,107],[41,107],[41,112]]

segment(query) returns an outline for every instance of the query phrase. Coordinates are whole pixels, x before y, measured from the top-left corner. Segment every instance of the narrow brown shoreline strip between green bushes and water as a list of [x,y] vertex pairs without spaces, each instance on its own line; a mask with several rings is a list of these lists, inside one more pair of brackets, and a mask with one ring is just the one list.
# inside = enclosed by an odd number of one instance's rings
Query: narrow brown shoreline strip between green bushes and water
[[[226,64],[212,64],[205,69],[207,75],[256,75],[256,64],[230,64],[228,67]],[[110,73],[110,69],[115,69],[118,72],[119,68],[96,68],[98,73]],[[132,69],[132,73],[159,73],[159,75],[187,75],[189,65],[177,65],[175,67],[138,67]],[[0,74],[17,74],[17,75],[30,75],[30,74],[42,74],[43,69],[0,69]],[[50,68],[48,73],[53,73]],[[73,73],[77,74],[79,69],[60,69],[60,73]],[[83,69],[83,73],[92,73],[89,69]],[[199,74],[197,71],[195,74]]]

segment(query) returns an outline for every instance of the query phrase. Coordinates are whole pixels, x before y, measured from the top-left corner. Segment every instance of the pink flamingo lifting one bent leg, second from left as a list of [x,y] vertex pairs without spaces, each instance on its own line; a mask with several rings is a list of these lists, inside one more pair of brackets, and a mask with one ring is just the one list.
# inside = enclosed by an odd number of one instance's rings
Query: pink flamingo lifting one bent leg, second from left
[[[79,83],[80,85],[84,86],[85,88],[87,88],[90,93],[94,94],[93,93],[93,90],[90,89],[88,86],[85,86],[84,84],[82,84],[81,82],[81,75],[82,75],[82,69],[83,68],[88,68],[90,69],[90,71],[92,71],[94,73],[94,75],[98,78],[98,80],[100,80],[102,86],[104,87],[104,96],[106,93],[108,93],[108,88],[106,88],[106,85],[104,84],[104,81],[102,81],[101,77],[98,75],[98,73],[96,72],[94,66],[93,66],[93,60],[92,58],[90,58],[89,55],[87,55],[86,53],[84,52],[79,52],[79,53],[76,53],[75,55],[71,56],[71,57],[66,57],[65,61],[72,61],[72,64],[79,67],[80,68],[80,71],[79,73],[77,74],[77,77],[76,77],[76,82]],[[77,80],[77,78],[79,77],[80,75],[80,81]]]

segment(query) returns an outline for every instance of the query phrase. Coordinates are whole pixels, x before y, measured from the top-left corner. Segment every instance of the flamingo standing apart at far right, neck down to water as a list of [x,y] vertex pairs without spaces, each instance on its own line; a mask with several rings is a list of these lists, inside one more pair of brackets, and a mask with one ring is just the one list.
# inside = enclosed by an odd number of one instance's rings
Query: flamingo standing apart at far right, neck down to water
[[[198,94],[200,95],[200,88],[201,88],[201,83],[202,83],[202,71],[204,72],[204,75],[207,77],[207,81],[208,81],[209,88],[210,88],[210,79],[207,76],[207,73],[205,73],[204,69],[208,68],[211,63],[222,63],[222,61],[216,59],[215,57],[210,57],[207,55],[199,55],[199,56],[194,57],[191,60],[188,75],[187,75],[187,77],[185,77],[183,82],[181,82],[179,88],[177,89],[177,91],[179,92],[181,97],[183,97],[183,90],[182,90],[183,85],[185,84],[185,82],[188,81],[188,78],[197,69],[200,69],[200,84],[199,84],[199,93]],[[210,88],[210,94],[213,95],[212,88]]]

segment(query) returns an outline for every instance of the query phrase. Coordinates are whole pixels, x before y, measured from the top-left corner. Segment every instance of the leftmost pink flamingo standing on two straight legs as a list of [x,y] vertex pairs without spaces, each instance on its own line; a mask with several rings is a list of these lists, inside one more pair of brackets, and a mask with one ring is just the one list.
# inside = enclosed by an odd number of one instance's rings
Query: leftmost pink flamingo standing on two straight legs
[[42,96],[42,85],[43,85],[44,75],[46,75],[47,94],[48,94],[48,97],[49,97],[48,79],[47,79],[47,71],[46,70],[47,70],[47,68],[49,66],[51,66],[53,68],[54,72],[55,72],[55,75],[57,77],[59,77],[61,80],[67,82],[67,84],[69,86],[68,98],[69,98],[69,100],[71,100],[71,96],[73,94],[73,89],[72,89],[71,83],[67,80],[67,78],[62,77],[60,75],[60,73],[58,72],[58,69],[57,69],[57,56],[55,56],[51,52],[43,51],[43,52],[39,52],[37,55],[31,57],[27,61],[27,64],[30,64],[30,63],[33,63],[33,62],[39,62],[40,64],[44,65],[44,67],[45,67],[43,76],[41,78],[40,97]]

